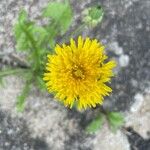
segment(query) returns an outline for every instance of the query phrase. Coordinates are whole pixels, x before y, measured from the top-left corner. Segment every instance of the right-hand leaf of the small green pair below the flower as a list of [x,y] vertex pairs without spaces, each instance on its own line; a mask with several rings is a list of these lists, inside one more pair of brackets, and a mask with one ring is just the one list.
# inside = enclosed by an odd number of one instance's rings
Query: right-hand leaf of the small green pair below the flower
[[124,124],[124,117],[119,112],[109,112],[107,117],[113,132],[116,132]]

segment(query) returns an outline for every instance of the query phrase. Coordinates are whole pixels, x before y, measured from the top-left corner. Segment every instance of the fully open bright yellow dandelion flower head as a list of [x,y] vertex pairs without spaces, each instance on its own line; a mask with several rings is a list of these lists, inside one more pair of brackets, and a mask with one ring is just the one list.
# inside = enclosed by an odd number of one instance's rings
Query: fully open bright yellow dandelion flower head
[[77,44],[71,39],[69,45],[56,45],[55,54],[47,57],[43,80],[65,106],[71,108],[76,101],[78,109],[95,107],[112,91],[106,82],[113,76],[116,63],[105,63],[104,46],[96,39],[79,36]]

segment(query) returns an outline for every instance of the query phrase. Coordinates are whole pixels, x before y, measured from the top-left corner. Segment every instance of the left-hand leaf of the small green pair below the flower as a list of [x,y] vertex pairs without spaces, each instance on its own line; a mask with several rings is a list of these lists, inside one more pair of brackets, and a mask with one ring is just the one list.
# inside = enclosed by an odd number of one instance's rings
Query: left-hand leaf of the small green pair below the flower
[[87,133],[95,133],[97,130],[99,130],[104,122],[103,115],[96,117],[87,127],[86,131]]

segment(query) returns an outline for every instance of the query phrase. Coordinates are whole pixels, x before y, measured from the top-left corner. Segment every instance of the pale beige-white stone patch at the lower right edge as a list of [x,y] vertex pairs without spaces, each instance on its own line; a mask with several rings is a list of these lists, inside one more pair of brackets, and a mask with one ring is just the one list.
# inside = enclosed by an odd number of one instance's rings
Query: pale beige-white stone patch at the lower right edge
[[[139,102],[137,101],[140,101],[140,105]],[[136,101],[131,106],[131,112],[128,112],[126,115],[126,127],[133,127],[133,129],[145,139],[150,138],[149,106],[150,106],[150,95],[147,94],[143,97],[140,94],[137,94]]]

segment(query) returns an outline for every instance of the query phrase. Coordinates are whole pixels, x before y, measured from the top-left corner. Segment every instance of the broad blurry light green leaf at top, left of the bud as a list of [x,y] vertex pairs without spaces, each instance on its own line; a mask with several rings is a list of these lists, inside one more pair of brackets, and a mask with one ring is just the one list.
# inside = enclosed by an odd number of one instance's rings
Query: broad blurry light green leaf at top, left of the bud
[[69,3],[52,2],[44,9],[43,16],[52,18],[64,34],[71,25],[72,9]]

